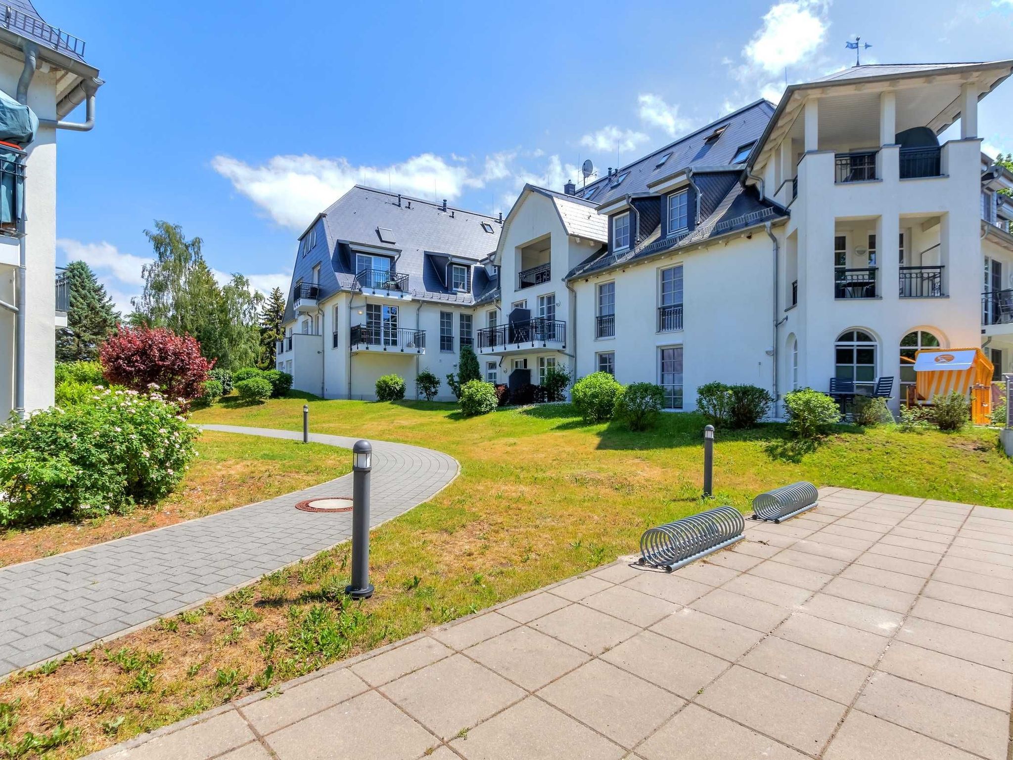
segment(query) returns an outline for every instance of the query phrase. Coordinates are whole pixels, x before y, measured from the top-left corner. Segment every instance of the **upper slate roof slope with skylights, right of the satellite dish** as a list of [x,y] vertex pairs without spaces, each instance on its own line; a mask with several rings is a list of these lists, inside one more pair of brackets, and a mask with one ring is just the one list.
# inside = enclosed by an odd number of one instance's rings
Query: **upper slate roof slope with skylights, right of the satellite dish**
[[[670,143],[664,148],[639,158],[631,164],[621,167],[612,177],[600,177],[587,189],[578,191],[583,195],[594,187],[596,192],[589,199],[602,206],[625,195],[650,192],[647,185],[661,177],[677,174],[687,168],[713,167],[728,165],[741,146],[757,141],[763,134],[767,122],[774,113],[774,104],[767,100],[757,100],[696,132]],[[721,133],[717,142],[705,153],[700,152],[707,138],[720,126],[727,129]],[[658,161],[666,154],[672,155],[661,166]],[[619,185],[611,183],[616,176],[628,172]]]

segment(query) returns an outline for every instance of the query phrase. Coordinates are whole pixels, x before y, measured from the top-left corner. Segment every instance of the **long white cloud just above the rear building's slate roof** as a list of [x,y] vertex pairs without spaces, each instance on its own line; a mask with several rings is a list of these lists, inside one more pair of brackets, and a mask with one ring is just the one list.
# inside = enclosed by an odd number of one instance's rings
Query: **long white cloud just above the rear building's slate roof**
[[[493,171],[505,171],[501,157],[490,158]],[[220,155],[212,166],[275,222],[298,232],[356,183],[424,198],[456,199],[466,187],[481,187],[485,182],[467,166],[448,163],[432,153],[390,166],[354,166],[344,158],[309,155],[275,156],[256,166]]]

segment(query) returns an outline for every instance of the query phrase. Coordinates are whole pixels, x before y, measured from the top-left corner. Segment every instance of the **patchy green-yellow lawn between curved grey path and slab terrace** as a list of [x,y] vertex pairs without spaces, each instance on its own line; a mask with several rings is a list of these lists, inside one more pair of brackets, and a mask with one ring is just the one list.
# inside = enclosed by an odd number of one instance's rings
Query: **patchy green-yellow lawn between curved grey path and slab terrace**
[[665,415],[655,430],[631,433],[585,425],[566,405],[464,419],[449,404],[293,397],[218,405],[193,421],[298,430],[304,403],[315,432],[415,443],[461,462],[431,502],[374,531],[376,595],[346,605],[347,546],[324,552],[202,613],[0,685],[0,702],[20,699],[0,742],[52,733],[54,715],[69,715],[65,729],[77,733],[50,752],[77,757],[632,554],[650,525],[715,504],[745,510],[759,491],[797,480],[1013,507],[1013,465],[997,431],[981,428],[842,428],[802,453],[779,425],[719,431],[716,499],[702,502],[696,415]]

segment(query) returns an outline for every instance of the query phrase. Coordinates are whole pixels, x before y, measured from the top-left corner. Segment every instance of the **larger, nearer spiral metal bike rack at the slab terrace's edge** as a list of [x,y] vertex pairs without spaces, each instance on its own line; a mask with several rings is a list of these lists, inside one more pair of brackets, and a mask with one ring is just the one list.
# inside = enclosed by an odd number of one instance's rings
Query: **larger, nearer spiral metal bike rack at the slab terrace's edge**
[[640,536],[639,565],[673,570],[689,565],[745,536],[746,521],[737,509],[717,507],[649,528]]

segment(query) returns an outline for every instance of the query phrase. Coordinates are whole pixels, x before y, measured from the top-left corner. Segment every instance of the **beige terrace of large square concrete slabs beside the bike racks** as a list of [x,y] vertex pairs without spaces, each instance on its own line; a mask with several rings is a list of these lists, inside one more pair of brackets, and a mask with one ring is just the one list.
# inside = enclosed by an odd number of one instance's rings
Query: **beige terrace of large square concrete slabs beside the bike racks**
[[1006,760],[1013,511],[827,489],[138,737],[115,760]]

